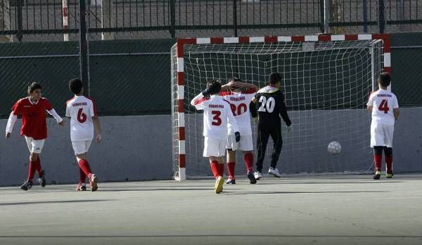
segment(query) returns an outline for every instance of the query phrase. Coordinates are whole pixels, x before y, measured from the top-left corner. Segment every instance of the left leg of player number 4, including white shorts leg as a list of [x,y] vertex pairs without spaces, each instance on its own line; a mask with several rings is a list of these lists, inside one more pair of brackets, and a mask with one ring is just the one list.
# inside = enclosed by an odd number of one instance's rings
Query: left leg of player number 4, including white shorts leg
[[373,163],[375,174],[373,180],[381,178],[381,163],[383,162],[384,132],[382,125],[371,124],[371,147],[373,147]]

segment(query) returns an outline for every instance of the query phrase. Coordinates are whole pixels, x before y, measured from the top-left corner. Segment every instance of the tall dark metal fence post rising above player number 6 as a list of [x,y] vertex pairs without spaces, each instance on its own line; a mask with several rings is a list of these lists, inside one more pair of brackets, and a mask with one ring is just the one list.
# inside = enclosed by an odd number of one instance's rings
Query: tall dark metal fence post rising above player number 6
[[87,6],[85,0],[79,0],[79,69],[84,84],[84,92],[89,95],[88,42],[87,42]]

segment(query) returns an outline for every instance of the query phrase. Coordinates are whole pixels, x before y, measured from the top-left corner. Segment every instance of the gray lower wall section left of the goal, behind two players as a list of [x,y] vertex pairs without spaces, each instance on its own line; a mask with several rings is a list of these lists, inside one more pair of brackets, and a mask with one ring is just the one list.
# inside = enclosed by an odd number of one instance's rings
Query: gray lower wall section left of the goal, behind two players
[[[0,185],[20,184],[27,177],[29,151],[19,137],[22,120],[11,139],[0,139]],[[7,120],[0,120],[1,132]],[[100,181],[168,180],[172,173],[170,115],[101,117],[103,142],[91,144],[89,163]],[[77,163],[70,144],[70,125],[48,120],[49,137],[41,164],[50,183],[76,183]],[[36,175],[37,176],[37,175]]]

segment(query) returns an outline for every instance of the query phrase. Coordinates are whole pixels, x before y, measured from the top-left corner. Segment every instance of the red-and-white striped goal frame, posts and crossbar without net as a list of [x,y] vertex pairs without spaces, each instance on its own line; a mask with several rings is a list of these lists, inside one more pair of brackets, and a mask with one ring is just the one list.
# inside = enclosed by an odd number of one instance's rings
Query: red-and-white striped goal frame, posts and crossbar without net
[[[279,39],[281,41],[279,41]],[[391,74],[391,46],[390,46],[390,35],[389,34],[320,34],[320,35],[309,35],[309,36],[269,36],[269,37],[210,37],[200,38],[200,44],[247,44],[250,42],[264,42],[264,43],[277,43],[277,42],[289,42],[283,40],[291,40],[290,42],[305,42],[305,40],[315,40],[308,42],[338,42],[338,41],[357,41],[357,40],[383,40],[383,70]],[[318,41],[316,41],[318,40]],[[178,89],[178,93],[182,91],[184,93],[184,45],[185,44],[197,44],[198,38],[186,38],[177,39],[177,85],[181,87]],[[181,92],[180,92],[181,93]],[[177,96],[177,113],[179,117],[184,117],[184,94],[178,94]],[[179,139],[179,168],[186,168],[186,154],[184,149],[185,141],[185,127],[184,119],[183,125],[181,125],[181,119],[179,118],[179,125],[177,126],[177,134]],[[183,142],[183,144],[182,144]],[[185,172],[184,172],[185,174]],[[184,180],[184,176],[179,176],[181,180]]]

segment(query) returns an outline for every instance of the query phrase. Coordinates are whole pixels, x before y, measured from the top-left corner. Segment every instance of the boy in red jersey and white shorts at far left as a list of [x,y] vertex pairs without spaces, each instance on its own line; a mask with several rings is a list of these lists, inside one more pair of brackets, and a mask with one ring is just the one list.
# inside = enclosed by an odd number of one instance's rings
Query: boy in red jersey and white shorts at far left
[[11,137],[13,126],[18,119],[18,115],[22,115],[20,135],[25,136],[28,149],[30,149],[28,177],[27,180],[20,186],[20,189],[23,189],[24,191],[31,189],[35,170],[38,172],[38,182],[41,184],[41,187],[46,186],[46,173],[43,169],[41,169],[41,160],[39,159],[39,154],[41,153],[45,139],[47,138],[45,111],[56,118],[58,125],[64,125],[65,122],[53,109],[50,101],[41,97],[41,85],[37,82],[32,82],[32,84],[28,87],[28,96],[18,100],[15,105],[13,105],[11,115],[8,118],[6,139]]

